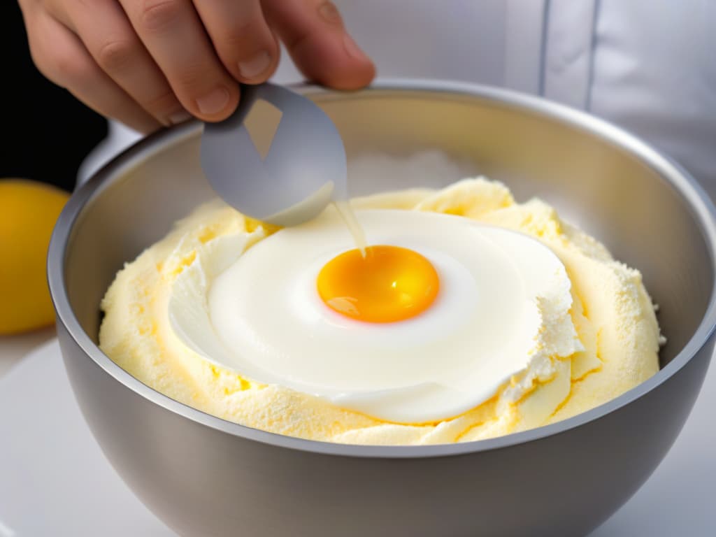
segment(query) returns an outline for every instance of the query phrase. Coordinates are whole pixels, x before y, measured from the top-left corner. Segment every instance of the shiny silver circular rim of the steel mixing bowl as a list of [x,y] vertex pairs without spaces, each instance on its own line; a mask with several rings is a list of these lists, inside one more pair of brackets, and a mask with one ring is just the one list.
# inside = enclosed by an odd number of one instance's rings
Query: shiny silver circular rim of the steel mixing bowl
[[[591,135],[601,138],[610,145],[614,145],[637,158],[644,165],[667,180],[667,183],[686,200],[692,216],[700,225],[700,231],[707,243],[708,254],[712,263],[712,272],[716,272],[716,208],[705,190],[692,178],[684,168],[673,160],[659,153],[646,142],[630,134],[621,127],[616,127],[606,120],[602,120],[586,112],[566,107],[557,102],[548,101],[542,97],[526,95],[509,89],[489,87],[480,84],[464,82],[436,81],[429,79],[380,79],[367,89],[359,92],[335,92],[323,87],[310,84],[294,84],[296,91],[306,95],[319,97],[320,100],[384,97],[390,94],[431,93],[445,99],[470,99],[477,97],[480,100],[497,102],[503,107],[510,107],[523,112],[546,117],[549,120],[561,122],[565,125],[586,130]],[[645,380],[615,399],[594,407],[586,412],[569,417],[566,420],[543,425],[523,432],[511,433],[505,436],[473,440],[452,444],[437,445],[352,445],[319,440],[305,440],[302,438],[267,432],[246,425],[241,425],[220,417],[209,415],[182,402],[173,400],[152,387],[143,384],[139,379],[122,369],[112,359],[107,357],[100,348],[92,342],[87,333],[79,324],[77,317],[69,304],[69,297],[64,286],[64,266],[67,258],[67,246],[71,242],[74,226],[82,215],[84,207],[93,198],[102,193],[104,187],[111,183],[113,177],[121,175],[123,171],[140,165],[142,161],[161,150],[170,143],[180,142],[195,135],[200,129],[200,122],[193,120],[171,129],[160,130],[153,135],[139,140],[127,150],[122,151],[92,175],[71,196],[59,216],[52,233],[47,260],[47,278],[50,294],[57,313],[57,324],[62,324],[65,331],[82,349],[84,354],[101,367],[105,373],[113,377],[140,397],[163,407],[165,410],[187,418],[198,425],[210,427],[213,430],[228,433],[229,435],[253,440],[276,448],[287,448],[309,453],[324,455],[339,455],[357,458],[435,458],[455,455],[467,455],[488,450],[508,448],[515,445],[526,444],[552,435],[559,435],[588,422],[599,420],[611,412],[619,410],[625,405],[634,402],[640,397],[656,389],[670,377],[682,369],[699,350],[707,343],[716,328],[716,274],[715,286],[702,321],[691,339],[683,349],[657,374]]]

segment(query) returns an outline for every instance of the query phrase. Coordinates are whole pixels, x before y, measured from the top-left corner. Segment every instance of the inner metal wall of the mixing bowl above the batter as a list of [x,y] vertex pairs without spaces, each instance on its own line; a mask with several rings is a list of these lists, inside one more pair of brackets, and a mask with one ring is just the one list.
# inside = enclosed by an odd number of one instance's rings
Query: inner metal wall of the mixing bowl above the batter
[[[372,89],[311,95],[336,122],[349,159],[441,150],[475,174],[502,180],[518,200],[538,196],[555,205],[616,258],[642,271],[668,338],[662,366],[699,326],[714,267],[697,214],[681,187],[625,147],[619,131],[558,107],[495,97],[500,93]],[[64,271],[69,303],[94,342],[99,304],[117,270],[214,197],[200,170],[200,129],[193,124],[155,135],[83,190],[89,199],[72,226]],[[420,182],[440,187],[456,179]],[[362,195],[416,185],[376,175],[354,178],[349,186],[352,195]]]

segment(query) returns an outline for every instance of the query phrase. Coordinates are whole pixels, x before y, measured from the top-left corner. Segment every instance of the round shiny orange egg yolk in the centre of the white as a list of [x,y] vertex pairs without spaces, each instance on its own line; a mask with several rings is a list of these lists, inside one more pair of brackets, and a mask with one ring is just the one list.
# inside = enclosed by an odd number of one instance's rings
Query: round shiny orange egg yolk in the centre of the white
[[339,314],[373,323],[410,319],[425,311],[440,288],[430,261],[400,246],[349,250],[326,263],[318,292]]

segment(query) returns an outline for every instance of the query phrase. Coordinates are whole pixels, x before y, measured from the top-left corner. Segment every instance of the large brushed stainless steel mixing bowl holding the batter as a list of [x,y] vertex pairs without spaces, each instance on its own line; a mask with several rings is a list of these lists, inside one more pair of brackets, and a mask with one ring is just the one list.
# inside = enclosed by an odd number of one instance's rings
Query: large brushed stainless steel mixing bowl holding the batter
[[[337,123],[349,155],[439,148],[503,180],[519,199],[550,201],[641,269],[669,338],[661,371],[569,420],[458,445],[297,440],[170,400],[102,354],[97,330],[100,299],[122,263],[213,195],[199,168],[201,127],[190,123],[97,173],[72,196],[52,238],[64,362],[105,455],[183,536],[587,533],[649,477],[702,384],[716,321],[716,227],[705,194],[634,137],[543,100],[438,82],[303,91]],[[412,186],[373,183],[353,183],[352,192]]]

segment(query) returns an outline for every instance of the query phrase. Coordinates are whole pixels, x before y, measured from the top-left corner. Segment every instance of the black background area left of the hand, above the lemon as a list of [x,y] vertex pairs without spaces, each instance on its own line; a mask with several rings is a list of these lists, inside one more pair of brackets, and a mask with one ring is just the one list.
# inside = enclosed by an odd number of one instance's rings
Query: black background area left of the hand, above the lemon
[[16,0],[0,0],[0,178],[72,190],[84,157],[107,121],[34,67]]

